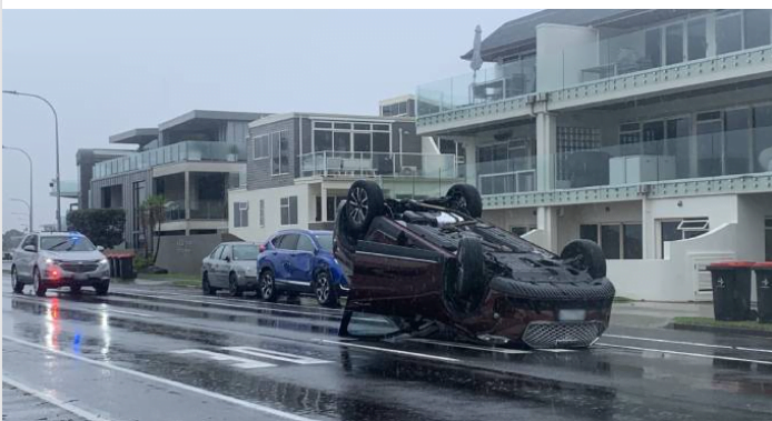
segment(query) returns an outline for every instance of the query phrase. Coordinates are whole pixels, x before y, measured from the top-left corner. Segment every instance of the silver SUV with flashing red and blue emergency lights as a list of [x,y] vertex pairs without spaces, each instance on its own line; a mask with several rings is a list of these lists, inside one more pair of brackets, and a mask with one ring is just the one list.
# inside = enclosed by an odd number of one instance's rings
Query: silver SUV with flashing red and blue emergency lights
[[49,288],[69,287],[73,293],[81,287],[93,287],[97,294],[110,288],[110,264],[85,235],[77,232],[40,232],[24,237],[13,251],[11,285],[21,293],[32,284],[38,297]]

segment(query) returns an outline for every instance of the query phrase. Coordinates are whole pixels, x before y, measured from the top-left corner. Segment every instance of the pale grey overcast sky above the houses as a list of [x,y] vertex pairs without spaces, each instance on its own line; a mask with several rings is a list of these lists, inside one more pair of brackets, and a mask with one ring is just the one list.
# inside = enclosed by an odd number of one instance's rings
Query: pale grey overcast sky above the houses
[[[380,99],[469,71],[458,57],[529,11],[3,10],[2,87],[59,111],[61,178],[79,148],[191,109],[377,113]],[[55,222],[53,121],[34,99],[3,96],[3,144],[36,166],[36,228]],[[27,160],[3,151],[3,230],[27,212]],[[67,209],[62,201],[62,212]]]

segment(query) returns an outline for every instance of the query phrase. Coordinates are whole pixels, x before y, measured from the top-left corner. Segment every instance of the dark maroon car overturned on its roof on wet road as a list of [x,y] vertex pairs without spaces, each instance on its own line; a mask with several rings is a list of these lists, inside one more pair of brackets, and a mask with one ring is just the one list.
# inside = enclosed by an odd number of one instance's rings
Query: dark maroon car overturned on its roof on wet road
[[[482,221],[482,212],[468,184],[417,201],[354,182],[335,222],[335,257],[350,281],[340,334],[593,344],[614,299],[600,247],[574,240],[556,255]],[[380,318],[363,317],[373,314]]]

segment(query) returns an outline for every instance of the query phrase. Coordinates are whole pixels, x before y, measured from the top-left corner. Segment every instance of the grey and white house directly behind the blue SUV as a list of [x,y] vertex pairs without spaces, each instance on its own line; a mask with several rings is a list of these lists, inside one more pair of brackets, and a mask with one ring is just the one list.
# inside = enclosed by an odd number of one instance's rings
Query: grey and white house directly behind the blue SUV
[[331,229],[362,178],[402,198],[442,194],[459,173],[456,157],[418,137],[410,118],[270,116],[249,124],[246,186],[228,194],[229,232],[264,241],[279,229]]

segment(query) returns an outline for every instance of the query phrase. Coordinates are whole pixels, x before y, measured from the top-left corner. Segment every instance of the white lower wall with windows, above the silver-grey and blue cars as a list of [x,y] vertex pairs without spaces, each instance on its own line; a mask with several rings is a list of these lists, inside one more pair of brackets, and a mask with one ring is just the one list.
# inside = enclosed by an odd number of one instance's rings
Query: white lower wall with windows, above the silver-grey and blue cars
[[[297,197],[298,223],[281,225],[280,199]],[[265,200],[265,225],[260,227],[259,210],[260,199]],[[274,189],[246,190],[234,189],[228,191],[228,231],[248,241],[265,241],[278,230],[298,228],[307,229],[310,210],[313,208],[308,184],[286,186]],[[249,203],[249,225],[234,227],[234,202]]]

